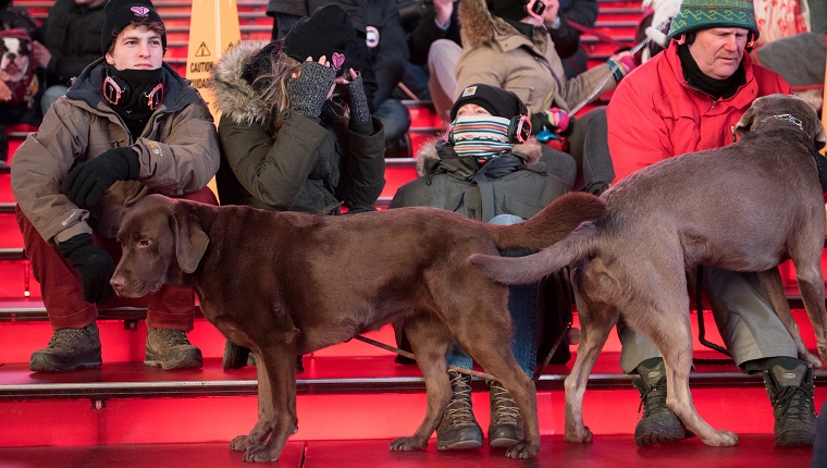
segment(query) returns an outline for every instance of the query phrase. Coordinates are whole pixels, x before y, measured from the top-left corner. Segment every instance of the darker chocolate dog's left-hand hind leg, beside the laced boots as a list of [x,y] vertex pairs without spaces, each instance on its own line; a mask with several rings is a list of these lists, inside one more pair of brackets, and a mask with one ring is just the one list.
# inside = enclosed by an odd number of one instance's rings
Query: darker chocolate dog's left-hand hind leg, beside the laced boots
[[445,356],[452,340],[444,323],[435,317],[420,315],[406,320],[405,334],[408,336],[417,365],[425,381],[428,409],[414,435],[397,438],[391,442],[392,451],[424,448],[450,403],[450,384]]

